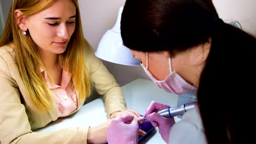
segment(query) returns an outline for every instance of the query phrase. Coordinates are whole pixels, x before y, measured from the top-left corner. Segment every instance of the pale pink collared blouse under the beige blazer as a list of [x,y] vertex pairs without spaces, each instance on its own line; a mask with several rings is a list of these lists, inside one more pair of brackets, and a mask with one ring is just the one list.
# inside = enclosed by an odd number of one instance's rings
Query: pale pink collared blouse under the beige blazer
[[40,73],[44,75],[51,92],[54,93],[55,104],[57,106],[59,117],[67,116],[69,113],[77,109],[78,98],[77,94],[73,92],[74,85],[71,82],[72,74],[62,69],[61,86],[51,84],[47,78],[45,71],[40,68]]

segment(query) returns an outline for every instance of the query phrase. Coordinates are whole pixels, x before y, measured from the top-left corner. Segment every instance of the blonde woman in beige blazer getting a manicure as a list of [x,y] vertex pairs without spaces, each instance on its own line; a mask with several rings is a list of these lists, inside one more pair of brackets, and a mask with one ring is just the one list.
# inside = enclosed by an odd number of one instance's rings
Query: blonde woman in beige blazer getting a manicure
[[92,86],[111,118],[139,116],[84,39],[77,0],[13,0],[0,39],[0,143],[106,143],[110,119],[33,133],[78,111]]

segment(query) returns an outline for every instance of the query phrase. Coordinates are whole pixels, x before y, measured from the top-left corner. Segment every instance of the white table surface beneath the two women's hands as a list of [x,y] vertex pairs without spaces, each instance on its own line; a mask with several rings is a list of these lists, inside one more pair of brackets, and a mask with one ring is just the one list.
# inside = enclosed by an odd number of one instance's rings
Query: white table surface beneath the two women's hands
[[[158,88],[151,80],[136,79],[127,83],[123,87],[126,106],[129,109],[137,110],[141,115],[144,114],[150,102],[155,100],[160,103],[176,106],[178,95],[166,93],[163,89]],[[174,117],[176,121],[179,118]],[[68,127],[84,127],[96,126],[107,121],[107,115],[104,110],[104,103],[102,98],[95,99],[88,104],[85,104],[73,115],[57,119],[46,127],[34,130],[38,131],[53,131]],[[151,131],[139,143],[165,143],[161,135],[158,133],[158,128]]]

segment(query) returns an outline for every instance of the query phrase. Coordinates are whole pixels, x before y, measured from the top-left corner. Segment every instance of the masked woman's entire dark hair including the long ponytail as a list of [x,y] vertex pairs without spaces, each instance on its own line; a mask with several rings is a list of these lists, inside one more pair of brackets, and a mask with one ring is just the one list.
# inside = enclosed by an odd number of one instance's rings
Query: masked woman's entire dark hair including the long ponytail
[[[255,95],[250,91],[255,85],[247,83],[256,81],[256,40],[219,19],[211,0],[126,0],[121,37],[132,50],[171,53],[211,38],[197,89],[207,141],[243,143],[248,139],[241,135],[248,127],[237,116],[244,113],[243,106],[252,103],[241,95]],[[234,111],[237,106],[241,107]]]

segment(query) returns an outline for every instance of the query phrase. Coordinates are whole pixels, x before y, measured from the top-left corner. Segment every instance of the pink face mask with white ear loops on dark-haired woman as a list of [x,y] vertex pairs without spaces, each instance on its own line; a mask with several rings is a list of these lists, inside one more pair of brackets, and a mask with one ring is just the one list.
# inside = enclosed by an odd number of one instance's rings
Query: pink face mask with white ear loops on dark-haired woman
[[155,85],[164,89],[166,92],[174,93],[174,94],[184,94],[188,91],[192,91],[196,89],[196,87],[190,85],[188,82],[186,82],[184,79],[182,79],[179,74],[176,73],[176,71],[172,71],[171,69],[171,58],[169,57],[169,69],[170,74],[165,78],[165,80],[159,81],[156,80],[155,77],[150,73],[148,70],[148,52],[147,54],[147,65],[146,67],[141,63],[141,66],[145,70],[145,72],[148,74],[150,79],[152,79],[155,82]]

